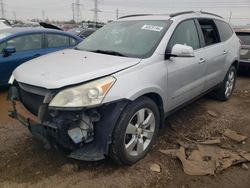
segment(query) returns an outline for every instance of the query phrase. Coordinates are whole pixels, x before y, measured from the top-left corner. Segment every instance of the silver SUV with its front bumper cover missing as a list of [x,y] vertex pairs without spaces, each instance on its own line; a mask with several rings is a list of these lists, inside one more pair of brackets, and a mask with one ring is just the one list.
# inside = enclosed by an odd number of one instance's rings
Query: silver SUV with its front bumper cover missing
[[76,49],[18,67],[11,116],[71,158],[130,165],[169,114],[208,92],[231,97],[239,51],[230,25],[211,13],[126,16]]

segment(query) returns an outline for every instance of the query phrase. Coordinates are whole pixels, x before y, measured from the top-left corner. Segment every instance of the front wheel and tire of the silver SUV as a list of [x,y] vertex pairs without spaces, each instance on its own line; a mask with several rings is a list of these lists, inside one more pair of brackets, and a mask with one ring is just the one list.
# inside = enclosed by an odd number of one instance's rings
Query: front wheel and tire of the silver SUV
[[113,131],[110,157],[119,165],[132,165],[144,158],[154,144],[160,125],[157,105],[147,97],[130,103]]

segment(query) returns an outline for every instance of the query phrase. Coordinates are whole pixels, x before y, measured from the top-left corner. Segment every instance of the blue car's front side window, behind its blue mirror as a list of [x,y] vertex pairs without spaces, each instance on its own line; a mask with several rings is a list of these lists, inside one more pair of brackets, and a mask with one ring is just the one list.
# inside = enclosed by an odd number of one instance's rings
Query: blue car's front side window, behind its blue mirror
[[7,46],[15,47],[17,52],[42,48],[42,35],[32,34],[16,37],[7,41]]

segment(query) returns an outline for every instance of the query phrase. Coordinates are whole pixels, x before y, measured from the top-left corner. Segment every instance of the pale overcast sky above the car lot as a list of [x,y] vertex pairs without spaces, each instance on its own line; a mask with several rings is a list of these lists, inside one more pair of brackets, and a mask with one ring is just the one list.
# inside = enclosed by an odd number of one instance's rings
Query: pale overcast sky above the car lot
[[[70,20],[73,18],[72,3],[75,0],[3,0],[6,17],[17,19],[45,18],[50,20]],[[94,1],[80,0],[81,17],[93,20]],[[154,13],[168,14],[186,10],[203,10],[223,16],[235,25],[250,24],[250,0],[99,0],[99,21],[116,19],[128,14]]]

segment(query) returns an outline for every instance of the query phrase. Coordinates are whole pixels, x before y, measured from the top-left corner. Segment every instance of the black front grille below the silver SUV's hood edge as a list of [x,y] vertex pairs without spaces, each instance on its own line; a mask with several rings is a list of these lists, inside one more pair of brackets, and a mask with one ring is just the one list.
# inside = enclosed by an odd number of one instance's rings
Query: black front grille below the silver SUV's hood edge
[[19,83],[20,100],[25,108],[35,116],[38,116],[39,108],[43,104],[45,98],[44,90],[42,89],[41,91],[39,87]]

